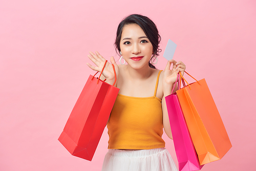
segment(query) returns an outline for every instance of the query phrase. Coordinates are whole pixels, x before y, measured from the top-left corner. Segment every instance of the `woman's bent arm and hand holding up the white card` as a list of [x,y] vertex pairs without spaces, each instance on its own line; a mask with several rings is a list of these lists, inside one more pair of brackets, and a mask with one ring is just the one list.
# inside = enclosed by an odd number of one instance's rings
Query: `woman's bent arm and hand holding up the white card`
[[[170,66],[173,63],[173,69],[170,70]],[[177,79],[178,73],[184,74],[186,66],[182,61],[176,62],[175,60],[169,60],[163,74],[163,98],[162,98],[162,111],[163,111],[163,127],[166,135],[173,139],[172,130],[170,129],[169,116],[167,112],[165,97],[172,93],[174,83]],[[176,90],[175,90],[176,91]]]

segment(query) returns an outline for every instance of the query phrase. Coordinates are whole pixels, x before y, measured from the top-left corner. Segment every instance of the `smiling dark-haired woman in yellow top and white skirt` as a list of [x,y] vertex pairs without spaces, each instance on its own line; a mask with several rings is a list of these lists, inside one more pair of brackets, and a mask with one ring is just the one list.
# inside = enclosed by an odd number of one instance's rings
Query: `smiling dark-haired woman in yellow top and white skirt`
[[[165,96],[171,94],[178,73],[184,74],[185,65],[169,60],[163,72],[157,70],[152,63],[161,52],[160,40],[146,16],[127,16],[118,26],[115,47],[120,63],[127,65],[117,65],[111,57],[120,91],[108,121],[109,152],[102,170],[177,170],[162,134],[164,128],[172,139]],[[98,52],[88,57],[96,67],[87,65],[101,71],[105,59]],[[109,84],[115,80],[111,63],[106,63],[101,78]]]

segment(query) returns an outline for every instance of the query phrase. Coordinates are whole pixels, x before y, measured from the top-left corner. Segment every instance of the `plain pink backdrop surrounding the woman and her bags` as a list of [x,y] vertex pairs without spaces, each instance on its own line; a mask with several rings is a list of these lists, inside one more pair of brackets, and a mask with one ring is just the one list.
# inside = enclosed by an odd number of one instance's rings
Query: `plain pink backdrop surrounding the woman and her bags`
[[[106,129],[92,162],[71,156],[57,138],[94,73],[88,52],[118,60],[116,28],[132,13],[153,19],[163,51],[172,39],[174,58],[208,83],[233,147],[202,170],[255,169],[254,0],[9,0],[0,2],[0,170],[101,169]],[[157,68],[165,63],[160,56]],[[177,164],[173,141],[163,138]]]

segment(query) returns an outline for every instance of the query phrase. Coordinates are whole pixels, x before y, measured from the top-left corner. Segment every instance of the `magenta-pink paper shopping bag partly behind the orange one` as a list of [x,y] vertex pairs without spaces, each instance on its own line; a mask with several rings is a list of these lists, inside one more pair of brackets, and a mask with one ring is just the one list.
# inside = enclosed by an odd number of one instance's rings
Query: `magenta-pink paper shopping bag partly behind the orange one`
[[[177,76],[177,80],[180,75]],[[175,85],[177,83],[175,82]],[[175,88],[175,87],[174,87]],[[173,91],[174,91],[173,88]],[[179,86],[180,89],[180,79]],[[172,129],[174,147],[179,162],[180,171],[200,170],[203,165],[199,164],[195,147],[187,129],[187,124],[181,110],[179,99],[176,93],[165,97],[170,127]]]

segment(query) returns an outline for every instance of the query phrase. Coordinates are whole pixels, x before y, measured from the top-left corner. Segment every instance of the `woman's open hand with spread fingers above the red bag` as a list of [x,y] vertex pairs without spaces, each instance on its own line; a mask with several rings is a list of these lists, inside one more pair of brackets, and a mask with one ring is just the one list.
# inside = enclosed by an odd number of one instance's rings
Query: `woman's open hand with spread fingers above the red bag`
[[[103,66],[104,66],[104,63],[106,61],[105,58],[103,58],[99,52],[95,52],[95,54],[93,52],[89,52],[90,55],[88,55],[89,59],[97,66],[97,67],[94,67],[92,66],[90,63],[87,63],[88,67],[90,67],[92,70],[94,71],[99,71],[101,72]],[[110,61],[111,63],[114,65],[115,67],[115,71],[116,71],[116,76],[118,76],[119,74],[119,68],[116,64],[116,61],[114,59],[114,57],[112,56],[110,58]],[[109,84],[113,84],[114,81],[115,81],[115,74],[114,74],[114,70],[113,70],[113,66],[112,64],[109,63],[109,62],[106,62],[106,65],[105,65],[105,68],[102,72],[102,75],[106,78],[106,82],[108,82]]]

